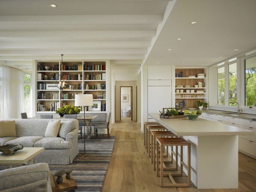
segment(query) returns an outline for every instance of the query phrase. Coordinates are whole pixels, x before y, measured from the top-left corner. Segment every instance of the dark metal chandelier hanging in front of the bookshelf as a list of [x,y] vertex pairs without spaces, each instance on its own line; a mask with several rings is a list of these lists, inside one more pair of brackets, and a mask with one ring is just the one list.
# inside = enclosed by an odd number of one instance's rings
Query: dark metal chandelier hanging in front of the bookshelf
[[63,54],[61,54],[61,70],[60,70],[60,74],[56,74],[53,73],[52,74],[52,78],[55,80],[55,86],[60,89],[63,90],[64,88],[68,87],[69,85],[69,80],[68,80],[68,75],[67,74],[62,74],[63,72]]

